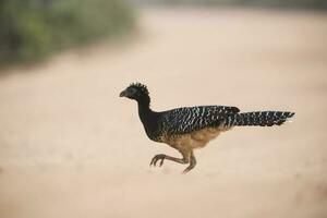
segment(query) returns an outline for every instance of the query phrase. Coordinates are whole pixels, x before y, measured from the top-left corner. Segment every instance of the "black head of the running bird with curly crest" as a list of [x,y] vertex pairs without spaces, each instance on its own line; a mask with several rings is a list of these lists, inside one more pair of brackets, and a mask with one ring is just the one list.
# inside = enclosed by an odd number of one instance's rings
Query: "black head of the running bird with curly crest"
[[120,97],[126,97],[136,101],[148,99],[147,87],[141,83],[132,83],[123,92],[120,93]]

